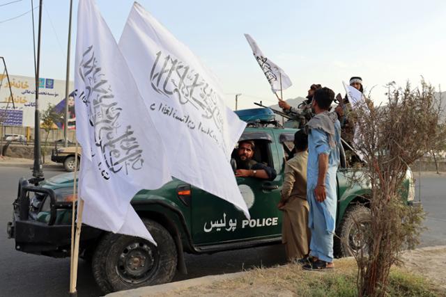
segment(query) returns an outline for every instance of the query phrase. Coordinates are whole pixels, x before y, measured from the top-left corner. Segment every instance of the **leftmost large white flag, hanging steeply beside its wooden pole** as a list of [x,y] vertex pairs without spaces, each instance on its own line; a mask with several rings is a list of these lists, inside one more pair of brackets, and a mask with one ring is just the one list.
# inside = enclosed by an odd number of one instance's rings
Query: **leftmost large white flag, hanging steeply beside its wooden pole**
[[171,175],[160,136],[93,0],[79,1],[75,89],[84,223],[153,241],[130,200]]

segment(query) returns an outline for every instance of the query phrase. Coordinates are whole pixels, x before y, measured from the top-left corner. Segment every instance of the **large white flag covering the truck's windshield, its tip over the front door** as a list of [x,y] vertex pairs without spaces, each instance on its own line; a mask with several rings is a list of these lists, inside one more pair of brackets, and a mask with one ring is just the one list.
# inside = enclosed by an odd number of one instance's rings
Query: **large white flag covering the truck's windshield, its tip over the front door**
[[245,122],[224,104],[213,74],[138,3],[119,40],[174,177],[249,212],[229,160]]

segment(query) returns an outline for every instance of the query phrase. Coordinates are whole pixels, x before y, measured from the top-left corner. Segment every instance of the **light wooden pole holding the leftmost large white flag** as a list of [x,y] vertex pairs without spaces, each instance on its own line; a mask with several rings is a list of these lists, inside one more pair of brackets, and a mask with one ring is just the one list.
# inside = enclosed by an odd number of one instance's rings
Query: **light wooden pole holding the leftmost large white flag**
[[[71,259],[70,259],[70,296],[77,296],[76,282],[77,282],[77,262],[79,260],[79,236],[81,233],[80,225],[82,225],[82,211],[84,211],[84,200],[80,200],[80,204],[77,211],[77,225],[75,230],[75,217],[76,217],[76,202],[77,199],[77,156],[78,156],[79,143],[76,141],[76,151],[75,151],[75,174],[73,177],[73,201],[71,210]],[[79,231],[78,231],[79,229]],[[76,245],[77,243],[77,245]]]

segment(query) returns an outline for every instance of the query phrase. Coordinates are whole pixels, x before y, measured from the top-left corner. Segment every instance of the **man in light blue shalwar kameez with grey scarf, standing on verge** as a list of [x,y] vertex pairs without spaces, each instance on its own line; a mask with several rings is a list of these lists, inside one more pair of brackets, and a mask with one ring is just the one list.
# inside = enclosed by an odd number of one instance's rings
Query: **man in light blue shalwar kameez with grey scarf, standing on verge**
[[329,113],[334,93],[316,90],[312,108],[316,115],[308,122],[307,201],[312,232],[312,262],[305,269],[333,268],[333,234],[336,220],[339,143],[341,125],[336,113]]

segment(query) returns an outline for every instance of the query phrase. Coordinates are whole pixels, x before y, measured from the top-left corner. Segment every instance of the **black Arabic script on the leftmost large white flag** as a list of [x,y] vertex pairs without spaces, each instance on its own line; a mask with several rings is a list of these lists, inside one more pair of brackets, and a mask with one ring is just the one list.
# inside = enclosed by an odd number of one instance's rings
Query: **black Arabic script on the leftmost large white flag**
[[[114,97],[112,86],[102,72],[102,67],[95,56],[93,45],[82,55],[82,61],[77,69],[84,81],[84,90],[76,90],[77,99],[86,105],[89,123],[93,127],[94,142],[100,147],[102,157],[98,161],[98,169],[104,179],[110,178],[110,173],[142,168],[144,159],[134,130],[131,125],[123,125],[119,121],[122,106]],[[92,152],[92,156],[95,153]]]

